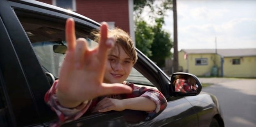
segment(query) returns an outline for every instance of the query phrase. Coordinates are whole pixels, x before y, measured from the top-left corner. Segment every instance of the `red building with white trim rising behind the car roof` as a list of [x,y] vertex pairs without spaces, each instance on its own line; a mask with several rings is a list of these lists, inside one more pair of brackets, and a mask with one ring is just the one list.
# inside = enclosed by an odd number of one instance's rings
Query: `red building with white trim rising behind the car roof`
[[108,22],[109,28],[120,27],[135,42],[133,0],[38,0],[70,9],[96,22]]

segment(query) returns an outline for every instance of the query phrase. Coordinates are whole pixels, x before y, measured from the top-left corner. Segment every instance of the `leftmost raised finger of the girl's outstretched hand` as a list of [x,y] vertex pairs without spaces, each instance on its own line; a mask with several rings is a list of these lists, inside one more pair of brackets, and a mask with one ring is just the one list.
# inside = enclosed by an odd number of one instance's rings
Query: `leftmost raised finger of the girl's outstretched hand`
[[73,18],[68,18],[66,21],[66,42],[68,45],[68,51],[75,50],[75,21]]

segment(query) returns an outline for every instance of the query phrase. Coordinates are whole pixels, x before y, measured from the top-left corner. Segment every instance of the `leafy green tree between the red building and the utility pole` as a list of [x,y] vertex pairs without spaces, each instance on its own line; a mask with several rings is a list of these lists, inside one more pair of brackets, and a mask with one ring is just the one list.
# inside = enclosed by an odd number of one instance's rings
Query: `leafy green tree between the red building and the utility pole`
[[[150,10],[147,14],[149,16],[147,22],[150,22],[150,25],[141,18],[145,7]],[[163,67],[165,58],[172,55],[170,33],[162,30],[164,17],[170,9],[172,9],[172,0],[134,0],[136,47],[159,67]]]

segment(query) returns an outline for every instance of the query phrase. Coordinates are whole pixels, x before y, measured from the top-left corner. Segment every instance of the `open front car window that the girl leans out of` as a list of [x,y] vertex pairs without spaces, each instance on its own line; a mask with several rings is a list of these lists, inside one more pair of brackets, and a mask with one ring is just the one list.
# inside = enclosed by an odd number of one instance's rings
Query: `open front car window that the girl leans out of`
[[[54,45],[66,45],[65,41],[65,23],[66,19],[50,17],[48,15],[26,12],[25,10],[14,9],[23,29],[27,33],[27,37],[32,43],[33,49],[37,55],[39,62],[45,72],[53,74],[54,78],[59,77],[59,69],[65,58],[64,53],[55,53]],[[76,23],[76,37],[86,38],[88,47],[93,48],[98,45],[93,41],[91,32],[95,28]],[[127,78],[128,82],[132,82],[138,86],[147,86],[155,88],[150,82],[135,68]]]

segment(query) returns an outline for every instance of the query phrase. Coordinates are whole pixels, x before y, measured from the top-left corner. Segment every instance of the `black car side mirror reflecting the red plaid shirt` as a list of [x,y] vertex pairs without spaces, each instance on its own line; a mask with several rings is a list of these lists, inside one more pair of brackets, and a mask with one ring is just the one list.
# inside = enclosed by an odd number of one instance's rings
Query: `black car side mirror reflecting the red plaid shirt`
[[193,74],[177,72],[171,76],[171,89],[174,96],[195,96],[201,92],[202,84]]

